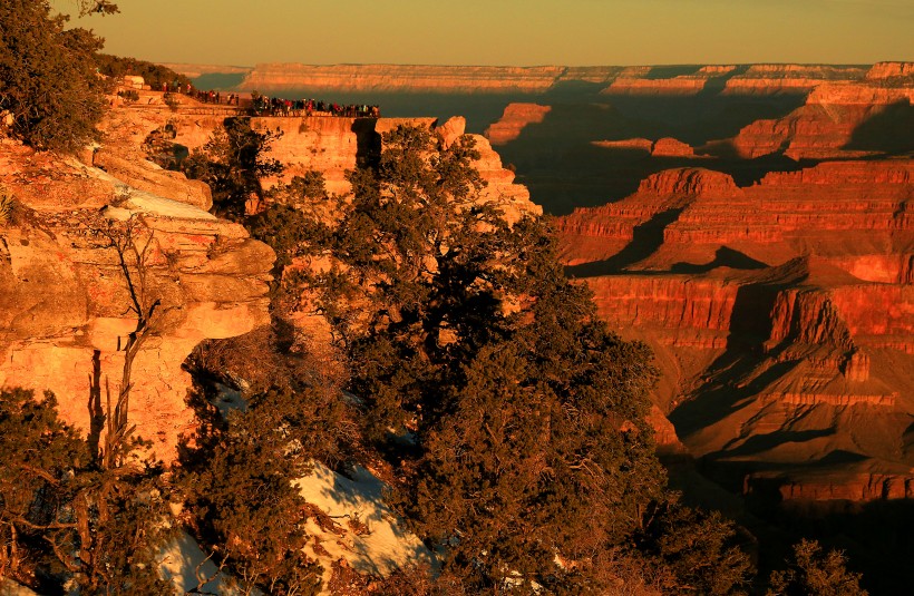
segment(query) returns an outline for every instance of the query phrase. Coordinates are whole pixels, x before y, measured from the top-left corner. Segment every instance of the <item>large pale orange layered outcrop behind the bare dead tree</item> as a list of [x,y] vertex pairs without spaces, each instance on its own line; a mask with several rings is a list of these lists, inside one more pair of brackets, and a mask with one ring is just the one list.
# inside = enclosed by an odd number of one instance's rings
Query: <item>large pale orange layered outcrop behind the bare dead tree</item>
[[[0,385],[51,390],[61,418],[88,428],[94,351],[103,383],[110,379],[117,391],[118,345],[136,324],[117,253],[97,231],[134,216],[138,246],[148,242],[142,291],[162,304],[133,367],[130,421],[153,441],[155,455],[171,461],[178,436],[194,424],[185,403],[191,379],[182,363],[204,339],[269,324],[272,250],[194,205],[200,188],[181,178],[162,176],[169,192],[192,204],[16,145],[0,146],[0,156],[3,183],[18,202],[13,219],[0,227]],[[146,166],[111,169],[144,173]]]

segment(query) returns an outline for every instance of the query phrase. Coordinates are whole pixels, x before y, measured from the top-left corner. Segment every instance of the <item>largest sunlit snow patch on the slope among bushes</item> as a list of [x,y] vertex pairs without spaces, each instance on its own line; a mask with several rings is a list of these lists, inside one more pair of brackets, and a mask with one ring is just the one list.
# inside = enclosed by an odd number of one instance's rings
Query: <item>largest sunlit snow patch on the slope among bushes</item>
[[[340,559],[356,571],[382,576],[408,565],[434,566],[431,551],[400,526],[396,514],[385,504],[385,483],[358,466],[350,476],[314,463],[311,476],[295,481],[302,497],[330,516],[340,533],[324,530],[313,519],[308,522],[309,534],[327,550],[315,553],[308,547],[308,555],[324,567],[324,585],[330,579],[331,564]],[[364,531],[357,534],[350,526],[356,519]]]

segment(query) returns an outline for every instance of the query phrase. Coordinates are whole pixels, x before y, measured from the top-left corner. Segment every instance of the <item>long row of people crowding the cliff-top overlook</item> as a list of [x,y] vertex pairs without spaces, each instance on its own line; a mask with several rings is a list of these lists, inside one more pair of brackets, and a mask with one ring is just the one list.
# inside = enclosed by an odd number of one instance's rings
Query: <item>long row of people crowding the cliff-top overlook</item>
[[381,116],[380,107],[368,104],[341,105],[318,99],[269,97],[256,92],[251,96],[250,100],[242,100],[239,94],[223,95],[221,91],[203,91],[194,88],[189,82],[182,85],[181,81],[163,82],[162,91],[183,94],[202,104],[237,106],[246,109],[252,116],[341,116],[349,118],[380,118]]

